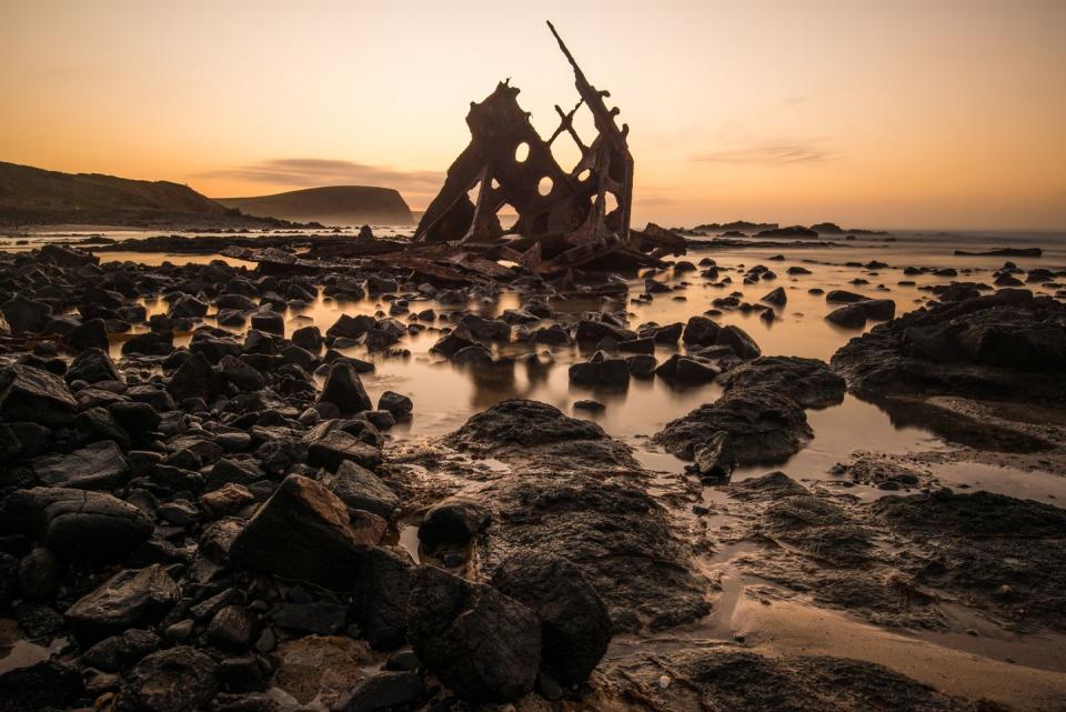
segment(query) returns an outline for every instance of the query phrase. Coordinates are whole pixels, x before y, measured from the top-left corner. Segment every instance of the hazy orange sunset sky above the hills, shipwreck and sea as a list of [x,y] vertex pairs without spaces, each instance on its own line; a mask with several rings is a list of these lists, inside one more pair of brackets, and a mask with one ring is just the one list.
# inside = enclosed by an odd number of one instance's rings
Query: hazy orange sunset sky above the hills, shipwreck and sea
[[[532,9],[531,9],[532,8]],[[631,126],[635,218],[1066,228],[1066,2],[0,0],[0,160],[425,205],[511,77]]]

